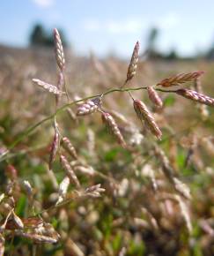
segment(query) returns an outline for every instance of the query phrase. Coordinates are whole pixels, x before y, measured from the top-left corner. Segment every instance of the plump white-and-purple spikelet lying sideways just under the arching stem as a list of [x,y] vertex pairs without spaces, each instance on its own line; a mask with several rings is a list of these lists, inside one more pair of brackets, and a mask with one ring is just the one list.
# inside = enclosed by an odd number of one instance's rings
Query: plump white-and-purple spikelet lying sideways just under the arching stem
[[77,108],[77,116],[86,116],[96,112],[100,107],[100,97],[87,101]]

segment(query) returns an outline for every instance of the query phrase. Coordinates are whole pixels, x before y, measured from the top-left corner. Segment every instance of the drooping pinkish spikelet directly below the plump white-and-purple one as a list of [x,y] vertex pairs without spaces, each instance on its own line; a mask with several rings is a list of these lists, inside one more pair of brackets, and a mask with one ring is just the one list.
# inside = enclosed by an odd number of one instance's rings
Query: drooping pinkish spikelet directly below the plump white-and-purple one
[[126,142],[123,139],[122,133],[120,132],[117,124],[115,123],[114,118],[107,112],[102,112],[101,115],[103,123],[107,126],[107,131],[114,135],[117,142],[122,147],[126,147]]

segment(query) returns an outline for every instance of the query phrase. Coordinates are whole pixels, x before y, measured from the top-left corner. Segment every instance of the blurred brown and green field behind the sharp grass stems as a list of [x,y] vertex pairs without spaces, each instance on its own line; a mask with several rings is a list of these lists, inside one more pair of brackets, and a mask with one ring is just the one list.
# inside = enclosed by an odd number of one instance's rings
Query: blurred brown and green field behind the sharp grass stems
[[[32,79],[55,84],[57,74],[53,49],[1,47],[0,56],[0,151],[4,153],[27,127],[54,114],[55,98],[33,85]],[[67,51],[65,58],[66,84],[71,100],[120,87],[126,78],[128,63],[114,56],[99,60],[95,56],[78,57]],[[203,93],[212,97],[214,64],[200,59],[173,62],[142,59],[129,87],[147,87],[173,74],[200,70],[205,72]],[[192,86],[189,82],[181,87]],[[60,130],[63,136],[70,138],[79,155],[79,160],[70,161],[81,189],[101,184],[106,192],[100,198],[80,198],[41,214],[61,236],[55,245],[35,246],[29,239],[18,236],[12,239],[11,231],[6,232],[5,255],[214,254],[213,108],[207,107],[209,116],[204,117],[196,102],[176,94],[159,93],[164,108],[157,110],[145,90],[132,94],[152,109],[163,139],[157,141],[140,124],[127,93],[106,95],[103,107],[118,111],[129,120],[125,124],[115,118],[132,148],[130,151],[118,146],[107,133],[100,113],[79,117],[74,122],[66,111],[61,112],[57,115]],[[63,97],[61,105],[65,103]],[[77,106],[71,109],[76,112]],[[136,142],[137,134],[144,136],[140,143]],[[48,120],[0,160],[1,193],[13,180],[16,184],[13,194],[15,212],[19,217],[29,217],[55,205],[57,190],[48,175],[53,136],[53,120]],[[162,172],[161,159],[155,153],[154,145],[165,152],[174,176],[190,188],[190,200],[179,196],[184,208]],[[17,169],[15,177],[8,169],[10,164]],[[85,168],[85,173],[80,167]],[[53,170],[60,183],[65,172],[58,156]],[[21,185],[23,180],[33,186],[33,203],[27,200]],[[153,187],[154,180],[157,190]],[[71,185],[68,193],[71,195],[74,191]],[[8,209],[4,203],[0,205],[2,218]]]

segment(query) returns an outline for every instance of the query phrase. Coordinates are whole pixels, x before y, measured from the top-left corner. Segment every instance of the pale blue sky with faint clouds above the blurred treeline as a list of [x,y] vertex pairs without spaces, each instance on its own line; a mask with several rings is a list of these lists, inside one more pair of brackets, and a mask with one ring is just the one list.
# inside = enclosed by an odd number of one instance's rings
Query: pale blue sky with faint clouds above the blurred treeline
[[151,26],[159,27],[159,48],[183,55],[214,44],[213,0],[2,0],[0,43],[26,46],[33,24],[63,28],[79,54],[131,54],[141,49]]

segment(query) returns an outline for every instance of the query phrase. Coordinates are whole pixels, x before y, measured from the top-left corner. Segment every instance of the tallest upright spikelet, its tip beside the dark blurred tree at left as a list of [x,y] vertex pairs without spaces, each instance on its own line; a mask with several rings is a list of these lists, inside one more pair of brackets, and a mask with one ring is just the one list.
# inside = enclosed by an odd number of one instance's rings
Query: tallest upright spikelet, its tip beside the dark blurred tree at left
[[55,60],[59,69],[63,72],[64,64],[65,64],[63,43],[61,41],[60,34],[56,28],[54,29],[54,38],[55,38]]

